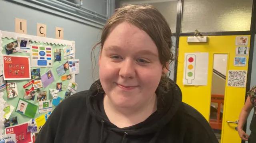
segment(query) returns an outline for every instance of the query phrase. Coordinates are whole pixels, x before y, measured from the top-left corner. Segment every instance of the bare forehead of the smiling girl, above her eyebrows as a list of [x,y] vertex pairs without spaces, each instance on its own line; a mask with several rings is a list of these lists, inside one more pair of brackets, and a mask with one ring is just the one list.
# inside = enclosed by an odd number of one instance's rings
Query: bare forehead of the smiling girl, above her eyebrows
[[104,47],[120,47],[123,50],[148,50],[158,53],[157,47],[151,37],[138,27],[123,22],[118,24],[109,34]]

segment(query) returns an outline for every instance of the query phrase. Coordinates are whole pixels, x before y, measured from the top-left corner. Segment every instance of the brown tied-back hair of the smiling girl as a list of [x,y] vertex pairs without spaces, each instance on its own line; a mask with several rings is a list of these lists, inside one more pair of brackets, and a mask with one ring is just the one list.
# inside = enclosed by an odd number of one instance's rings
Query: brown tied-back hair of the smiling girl
[[[149,5],[127,5],[118,8],[106,22],[102,30],[100,41],[98,41],[92,49],[91,57],[94,55],[96,47],[100,47],[100,51],[102,50],[104,42],[112,29],[122,22],[135,25],[151,37],[158,49],[160,63],[163,65],[163,68],[169,71],[169,67],[166,65],[169,65],[174,58],[174,54],[171,51],[172,32],[164,16],[156,8]],[[96,61],[92,61],[92,64],[95,67]],[[94,68],[92,68],[92,72],[94,72]],[[163,72],[159,85],[168,88],[168,84],[169,78],[166,73]]]

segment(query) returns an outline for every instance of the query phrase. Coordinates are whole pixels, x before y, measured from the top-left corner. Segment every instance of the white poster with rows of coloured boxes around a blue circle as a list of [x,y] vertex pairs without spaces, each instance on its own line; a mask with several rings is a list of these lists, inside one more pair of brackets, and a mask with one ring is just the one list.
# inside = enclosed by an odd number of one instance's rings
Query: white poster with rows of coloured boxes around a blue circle
[[30,45],[31,67],[52,67],[52,47],[42,45]]

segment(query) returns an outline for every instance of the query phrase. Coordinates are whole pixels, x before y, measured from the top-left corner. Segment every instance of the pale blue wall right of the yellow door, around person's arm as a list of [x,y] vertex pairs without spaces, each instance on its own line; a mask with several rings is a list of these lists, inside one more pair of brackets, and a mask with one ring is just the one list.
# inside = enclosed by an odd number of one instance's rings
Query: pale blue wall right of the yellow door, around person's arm
[[[254,38],[254,52],[253,52],[253,58],[252,58],[252,76],[251,76],[251,87],[252,86],[255,86],[256,85],[256,35],[255,35],[255,38]],[[248,116],[248,119],[247,119],[247,127],[246,127],[246,133],[248,135],[250,135],[251,131],[250,131],[250,123],[251,123],[251,120],[252,120],[252,115],[253,115],[253,112],[254,110],[252,109],[250,115]],[[246,142],[248,143],[248,142]]]

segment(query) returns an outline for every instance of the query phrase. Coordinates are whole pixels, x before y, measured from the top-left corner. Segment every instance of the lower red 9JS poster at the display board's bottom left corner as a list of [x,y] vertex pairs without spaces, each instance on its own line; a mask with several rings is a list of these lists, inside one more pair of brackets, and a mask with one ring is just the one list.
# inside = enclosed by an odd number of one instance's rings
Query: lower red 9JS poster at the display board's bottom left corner
[[16,134],[16,143],[32,143],[32,133],[27,132],[28,123],[14,125],[5,128],[5,133]]

